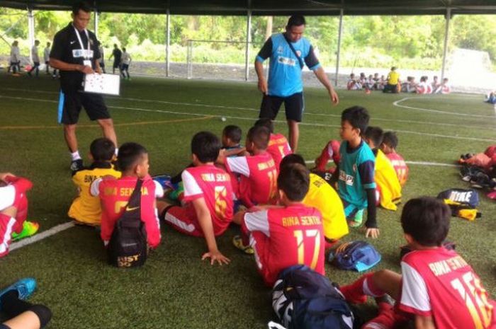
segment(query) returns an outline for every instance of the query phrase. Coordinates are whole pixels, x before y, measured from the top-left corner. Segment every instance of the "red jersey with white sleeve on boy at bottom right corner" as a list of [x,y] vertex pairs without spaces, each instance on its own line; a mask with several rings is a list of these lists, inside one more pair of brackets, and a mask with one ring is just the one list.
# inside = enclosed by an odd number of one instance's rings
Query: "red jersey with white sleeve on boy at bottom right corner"
[[401,262],[400,309],[432,316],[437,329],[495,328],[494,301],[454,250],[415,250]]

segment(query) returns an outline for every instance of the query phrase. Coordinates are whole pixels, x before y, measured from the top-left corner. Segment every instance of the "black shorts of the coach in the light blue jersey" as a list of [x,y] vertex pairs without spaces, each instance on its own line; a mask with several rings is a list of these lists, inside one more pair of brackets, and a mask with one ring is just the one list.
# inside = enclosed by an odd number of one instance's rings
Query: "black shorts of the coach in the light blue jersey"
[[271,120],[276,119],[283,102],[284,110],[286,110],[286,120],[301,122],[303,110],[305,110],[303,93],[293,93],[288,97],[264,95],[261,100],[259,117],[269,117]]

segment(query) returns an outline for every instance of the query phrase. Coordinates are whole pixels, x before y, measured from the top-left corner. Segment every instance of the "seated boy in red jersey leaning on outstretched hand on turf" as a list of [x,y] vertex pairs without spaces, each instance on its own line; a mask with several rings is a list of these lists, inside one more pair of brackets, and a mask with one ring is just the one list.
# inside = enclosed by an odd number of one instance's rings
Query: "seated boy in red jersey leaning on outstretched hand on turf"
[[230,175],[215,166],[220,141],[211,132],[198,132],[191,141],[193,167],[184,169],[184,206],[157,202],[160,218],[174,229],[190,236],[203,236],[210,264],[229,264],[230,259],[217,248],[215,236],[220,236],[232,221],[232,187]]

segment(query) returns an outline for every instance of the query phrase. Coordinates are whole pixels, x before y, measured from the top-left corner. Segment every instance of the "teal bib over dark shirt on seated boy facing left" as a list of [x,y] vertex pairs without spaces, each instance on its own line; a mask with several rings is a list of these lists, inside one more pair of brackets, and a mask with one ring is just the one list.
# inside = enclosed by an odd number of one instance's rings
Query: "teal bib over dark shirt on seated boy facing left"
[[356,149],[350,149],[348,142],[342,142],[339,154],[341,154],[337,183],[339,196],[356,209],[365,209],[367,207],[365,190],[376,188],[373,178],[376,157],[363,140]]

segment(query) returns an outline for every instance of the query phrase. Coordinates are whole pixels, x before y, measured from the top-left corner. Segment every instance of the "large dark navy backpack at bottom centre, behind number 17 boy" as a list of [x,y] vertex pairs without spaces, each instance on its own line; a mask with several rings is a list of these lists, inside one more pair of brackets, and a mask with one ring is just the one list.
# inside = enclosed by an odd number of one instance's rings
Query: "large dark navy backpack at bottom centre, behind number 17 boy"
[[354,314],[339,289],[305,265],[281,272],[272,290],[272,306],[288,329],[354,328]]

